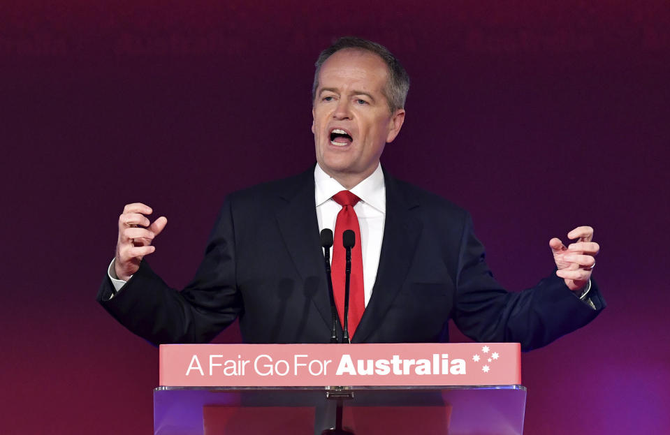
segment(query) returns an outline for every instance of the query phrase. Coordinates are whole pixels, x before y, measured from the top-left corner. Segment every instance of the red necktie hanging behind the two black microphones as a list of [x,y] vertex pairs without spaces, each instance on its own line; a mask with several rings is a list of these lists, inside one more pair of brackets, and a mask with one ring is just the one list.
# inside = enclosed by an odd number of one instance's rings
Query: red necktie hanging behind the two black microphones
[[361,228],[358,226],[358,216],[354,212],[354,205],[361,198],[350,191],[341,191],[333,195],[333,200],[342,205],[335,222],[333,235],[333,261],[330,270],[333,277],[333,293],[335,306],[340,314],[340,323],[344,323],[344,257],[342,233],[352,230],[356,234],[356,244],[351,249],[351,277],[349,279],[349,337],[354,337],[356,327],[361,322],[365,310],[365,290],[363,288],[363,251],[361,250]]

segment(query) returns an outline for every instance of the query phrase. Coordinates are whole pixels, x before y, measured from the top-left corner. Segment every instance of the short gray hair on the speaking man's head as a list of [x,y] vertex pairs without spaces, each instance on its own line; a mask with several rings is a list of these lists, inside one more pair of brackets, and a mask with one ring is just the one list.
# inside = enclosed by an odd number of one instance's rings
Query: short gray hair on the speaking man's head
[[388,101],[388,108],[391,109],[391,112],[405,108],[407,91],[409,91],[409,75],[405,71],[405,67],[400,64],[400,61],[384,45],[373,43],[371,40],[356,38],[356,36],[344,36],[319,54],[319,59],[316,59],[316,63],[314,64],[316,72],[314,72],[314,83],[312,84],[312,103],[314,103],[314,98],[316,98],[316,89],[319,89],[319,72],[321,71],[323,62],[335,54],[335,52],[347,48],[365,50],[381,57],[381,60],[384,61],[388,68],[388,83],[382,89]]

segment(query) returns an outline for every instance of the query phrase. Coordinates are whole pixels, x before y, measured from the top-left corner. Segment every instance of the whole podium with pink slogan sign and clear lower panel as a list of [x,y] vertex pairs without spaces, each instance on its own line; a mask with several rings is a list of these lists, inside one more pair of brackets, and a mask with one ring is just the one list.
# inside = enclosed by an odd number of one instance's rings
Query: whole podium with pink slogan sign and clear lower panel
[[[163,345],[154,434],[522,434],[518,344]],[[331,432],[333,433],[333,432]]]

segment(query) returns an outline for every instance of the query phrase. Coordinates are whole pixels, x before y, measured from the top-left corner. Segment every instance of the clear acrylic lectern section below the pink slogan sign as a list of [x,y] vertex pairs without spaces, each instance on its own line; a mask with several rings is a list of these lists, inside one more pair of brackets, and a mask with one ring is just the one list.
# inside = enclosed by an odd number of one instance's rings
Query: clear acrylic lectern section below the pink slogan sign
[[525,399],[521,385],[160,387],[154,434],[512,435],[523,432]]

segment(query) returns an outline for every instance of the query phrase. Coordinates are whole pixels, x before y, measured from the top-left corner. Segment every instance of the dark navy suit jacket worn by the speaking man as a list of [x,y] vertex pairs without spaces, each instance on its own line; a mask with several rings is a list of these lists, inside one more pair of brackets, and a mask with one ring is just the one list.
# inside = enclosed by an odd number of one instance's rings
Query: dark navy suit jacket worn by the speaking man
[[[330,305],[313,174],[228,196],[203,263],[183,291],[169,288],[143,261],[111,300],[105,276],[99,302],[154,344],[207,342],[237,317],[247,343],[328,343]],[[595,286],[593,310],[555,274],[508,293],[484,262],[465,210],[386,172],[384,177],[379,270],[352,342],[448,341],[453,318],[476,341],[518,341],[529,350],[585,325],[604,308]]]

